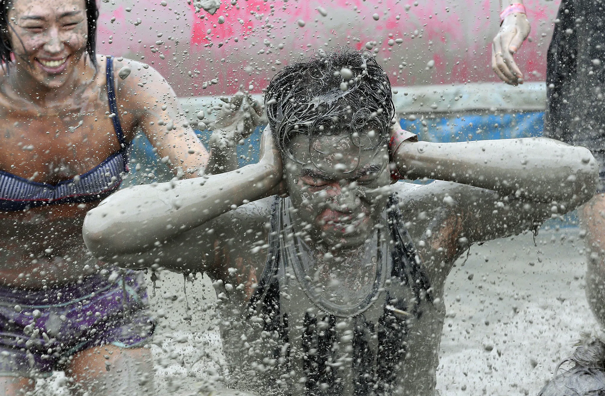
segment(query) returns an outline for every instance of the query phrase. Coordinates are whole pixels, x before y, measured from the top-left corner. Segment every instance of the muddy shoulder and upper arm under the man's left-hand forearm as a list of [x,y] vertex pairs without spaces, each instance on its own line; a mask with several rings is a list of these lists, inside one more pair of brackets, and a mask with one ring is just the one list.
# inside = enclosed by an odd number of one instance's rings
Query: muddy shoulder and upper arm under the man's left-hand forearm
[[267,258],[271,203],[272,197],[247,203],[174,239],[113,256],[109,262],[131,269],[206,273],[223,281],[221,290],[230,299],[247,300]]

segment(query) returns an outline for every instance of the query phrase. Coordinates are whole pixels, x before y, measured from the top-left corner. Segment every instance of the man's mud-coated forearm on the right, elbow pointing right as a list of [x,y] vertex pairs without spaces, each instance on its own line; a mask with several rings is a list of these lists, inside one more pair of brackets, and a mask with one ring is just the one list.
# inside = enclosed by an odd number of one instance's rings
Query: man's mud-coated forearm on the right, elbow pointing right
[[538,202],[584,202],[594,194],[598,175],[586,148],[546,138],[407,142],[394,159],[408,179],[448,180]]

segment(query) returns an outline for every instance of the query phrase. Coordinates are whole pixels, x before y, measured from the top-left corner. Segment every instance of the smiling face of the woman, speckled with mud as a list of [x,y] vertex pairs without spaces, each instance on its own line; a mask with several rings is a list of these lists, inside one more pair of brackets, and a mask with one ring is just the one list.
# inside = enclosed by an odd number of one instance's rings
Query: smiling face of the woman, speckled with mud
[[65,84],[86,50],[84,0],[15,0],[8,24],[18,67],[48,88]]

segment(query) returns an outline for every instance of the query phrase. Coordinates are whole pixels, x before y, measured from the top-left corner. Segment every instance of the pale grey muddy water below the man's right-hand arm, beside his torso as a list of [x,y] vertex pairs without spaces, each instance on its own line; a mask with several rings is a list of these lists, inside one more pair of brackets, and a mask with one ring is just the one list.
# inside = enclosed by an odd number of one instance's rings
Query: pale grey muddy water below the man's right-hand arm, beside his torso
[[457,262],[446,285],[442,395],[537,395],[581,332],[598,329],[578,229],[541,231],[536,242],[531,233],[494,240]]

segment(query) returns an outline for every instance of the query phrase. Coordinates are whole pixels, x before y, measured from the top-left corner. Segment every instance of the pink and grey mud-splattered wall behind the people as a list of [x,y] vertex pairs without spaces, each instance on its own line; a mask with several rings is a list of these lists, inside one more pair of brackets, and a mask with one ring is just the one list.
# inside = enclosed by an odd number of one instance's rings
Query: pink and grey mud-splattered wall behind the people
[[[490,56],[499,26],[498,0],[238,0],[235,5],[222,0],[214,15],[195,13],[186,0],[166,0],[166,6],[155,0],[110,1],[101,3],[99,52],[144,56],[180,96],[233,94],[241,84],[246,89],[253,85],[258,93],[274,70],[288,62],[318,48],[363,48],[367,42],[374,42],[394,85],[497,81]],[[517,59],[526,81],[543,81],[559,2],[525,4],[532,41]],[[318,7],[325,8],[327,16]],[[218,23],[220,17],[223,24]],[[116,18],[113,23],[111,18]],[[141,23],[135,26],[137,18]],[[401,44],[388,45],[389,39],[400,38]],[[157,47],[160,51],[152,52]],[[218,84],[203,89],[212,79]]]

